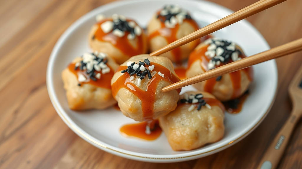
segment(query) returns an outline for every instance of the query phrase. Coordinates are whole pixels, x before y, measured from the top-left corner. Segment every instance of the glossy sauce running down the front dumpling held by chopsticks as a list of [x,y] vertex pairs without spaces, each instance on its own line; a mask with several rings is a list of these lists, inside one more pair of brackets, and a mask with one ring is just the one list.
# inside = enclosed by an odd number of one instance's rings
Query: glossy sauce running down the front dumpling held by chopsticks
[[[137,87],[136,84],[133,84],[131,81],[129,81],[130,75],[129,73],[122,74],[117,81],[115,81],[112,84],[112,95],[115,97],[117,95],[117,92],[121,88],[127,88],[129,91],[131,91],[135,96],[137,96],[142,101],[142,110],[143,110],[143,120],[144,121],[150,121],[153,120],[153,107],[155,103],[155,97],[156,97],[156,88],[158,86],[159,81],[166,81],[170,84],[180,81],[180,79],[175,76],[173,73],[170,72],[169,69],[165,68],[164,66],[151,62],[151,65],[154,65],[153,71],[156,71],[156,74],[152,76],[151,79],[149,79],[147,76],[142,80],[142,83],[145,83],[144,81],[148,80],[147,89],[146,91],[140,89]],[[116,72],[127,69],[127,66],[120,66]],[[164,78],[157,74],[157,72],[161,72],[164,74]],[[135,75],[134,75],[135,76]],[[181,89],[177,89],[178,93],[181,91]]]

